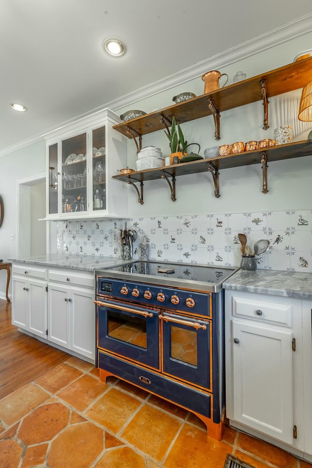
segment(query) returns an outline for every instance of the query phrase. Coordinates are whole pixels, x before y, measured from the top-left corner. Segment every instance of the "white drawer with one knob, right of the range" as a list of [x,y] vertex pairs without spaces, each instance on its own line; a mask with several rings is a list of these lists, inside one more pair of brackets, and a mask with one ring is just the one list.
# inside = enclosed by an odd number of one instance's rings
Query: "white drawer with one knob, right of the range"
[[232,311],[236,317],[292,326],[292,305],[233,296]]

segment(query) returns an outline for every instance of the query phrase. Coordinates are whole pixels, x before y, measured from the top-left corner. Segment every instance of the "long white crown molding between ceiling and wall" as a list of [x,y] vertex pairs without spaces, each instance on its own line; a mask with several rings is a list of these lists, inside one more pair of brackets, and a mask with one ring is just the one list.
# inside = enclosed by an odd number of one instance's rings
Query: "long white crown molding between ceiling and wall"
[[42,132],[40,135],[27,138],[26,140],[21,141],[13,146],[9,146],[0,151],[0,156],[13,153],[14,151],[20,150],[26,146],[38,143],[43,139],[43,136],[54,132],[60,128],[66,127],[73,122],[76,122],[77,119],[91,116],[94,113],[100,112],[106,108],[111,109],[116,112],[118,109],[123,107],[130,106],[142,99],[155,96],[163,91],[174,88],[177,85],[187,83],[188,81],[198,78],[207,69],[218,69],[231,65],[239,60],[247,59],[248,57],[263,52],[265,50],[271,49],[277,45],[283,44],[289,40],[303,36],[304,34],[312,32],[312,13],[305,15],[301,18],[293,20],[279,28],[273,29],[269,33],[262,34],[254,39],[248,40],[239,44],[231,49],[228,49],[218,55],[215,55],[207,60],[196,63],[188,68],[180,70],[169,77],[159,79],[154,83],[151,83],[147,86],[144,86],[132,93],[121,96],[120,98],[114,99],[107,102],[87,113],[81,114],[75,118],[66,120],[61,124],[47,129],[45,132]]

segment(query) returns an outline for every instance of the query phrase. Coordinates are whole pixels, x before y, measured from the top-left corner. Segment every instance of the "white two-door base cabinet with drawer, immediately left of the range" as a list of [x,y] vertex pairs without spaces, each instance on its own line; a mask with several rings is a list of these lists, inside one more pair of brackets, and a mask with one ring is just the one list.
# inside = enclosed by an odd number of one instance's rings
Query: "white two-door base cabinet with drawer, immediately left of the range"
[[48,339],[95,360],[93,273],[49,272]]

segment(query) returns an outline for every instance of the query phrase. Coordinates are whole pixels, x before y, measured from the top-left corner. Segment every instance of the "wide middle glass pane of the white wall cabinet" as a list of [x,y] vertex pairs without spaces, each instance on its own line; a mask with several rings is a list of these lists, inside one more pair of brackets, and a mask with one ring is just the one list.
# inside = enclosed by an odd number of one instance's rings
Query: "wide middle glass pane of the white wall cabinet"
[[62,213],[87,210],[87,135],[62,141]]

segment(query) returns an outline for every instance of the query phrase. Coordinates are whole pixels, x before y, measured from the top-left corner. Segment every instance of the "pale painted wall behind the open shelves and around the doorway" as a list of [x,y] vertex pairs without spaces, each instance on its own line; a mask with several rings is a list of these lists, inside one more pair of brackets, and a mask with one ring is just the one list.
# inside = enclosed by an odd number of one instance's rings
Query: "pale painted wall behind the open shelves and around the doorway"
[[[299,32],[300,34],[300,32]],[[195,35],[196,36],[196,35]],[[220,69],[227,73],[229,83],[237,71],[242,70],[247,78],[291,63],[293,58],[312,43],[312,33],[303,34],[267,50],[255,53],[243,60],[231,59],[231,63]],[[196,95],[203,93],[201,77],[183,83],[148,99],[134,102],[130,108],[151,112],[172,104],[172,98],[184,91]],[[300,123],[297,109],[300,90],[270,98],[269,124],[267,131],[262,129],[263,105],[261,101],[222,113],[221,139],[214,139],[213,117],[204,117],[183,124],[184,134],[189,142],[196,142],[203,150],[215,144],[234,141],[260,140],[273,137],[276,126],[290,124],[293,140],[304,139],[312,125]],[[127,108],[121,108],[121,114]],[[61,122],[60,122],[61,123]],[[160,146],[164,156],[169,155],[168,140],[163,131],[143,137],[143,146]],[[132,140],[127,140],[128,166],[135,168],[136,149]],[[144,184],[144,205],[137,203],[137,194],[128,187],[128,214],[131,217],[156,215],[192,215],[214,213],[269,212],[278,210],[310,209],[312,200],[312,159],[311,156],[269,162],[267,195],[262,194],[261,165],[234,168],[220,172],[220,198],[214,196],[214,186],[210,174],[182,176],[176,181],[176,202],[170,199],[169,187],[164,180]],[[0,157],[0,194],[4,200],[5,216],[0,229],[0,255],[5,260],[16,254],[16,241],[11,234],[16,233],[16,180],[45,171],[45,144],[36,143],[15,153]],[[5,289],[5,278],[0,277],[0,291]]]

